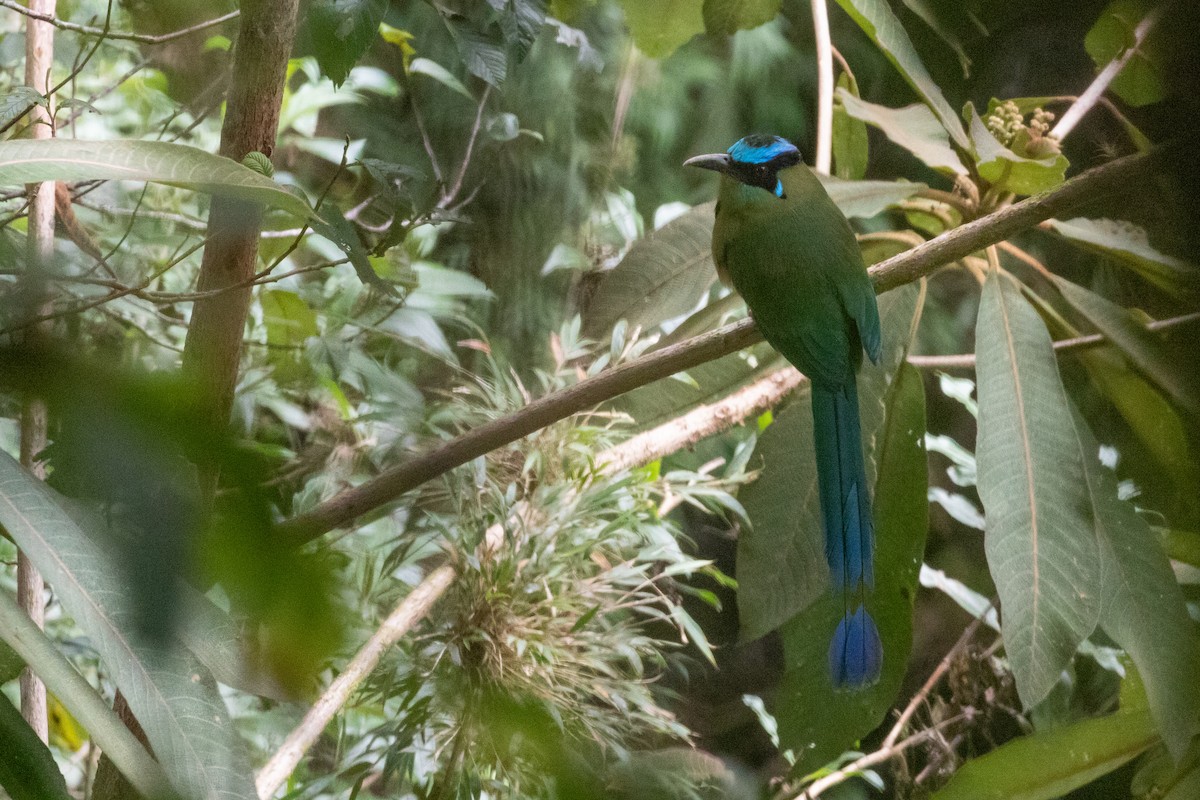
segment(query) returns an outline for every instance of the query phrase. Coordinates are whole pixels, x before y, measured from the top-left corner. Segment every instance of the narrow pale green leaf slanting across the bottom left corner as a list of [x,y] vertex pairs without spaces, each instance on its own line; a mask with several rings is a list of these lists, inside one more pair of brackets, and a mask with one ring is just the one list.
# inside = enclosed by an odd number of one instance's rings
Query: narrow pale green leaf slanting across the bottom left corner
[[[167,777],[108,703],[76,672],[46,632],[7,593],[0,591],[0,637],[28,661],[34,672],[76,720],[92,741],[103,748],[122,775],[145,796],[164,794]],[[6,741],[6,739],[4,740]]]

